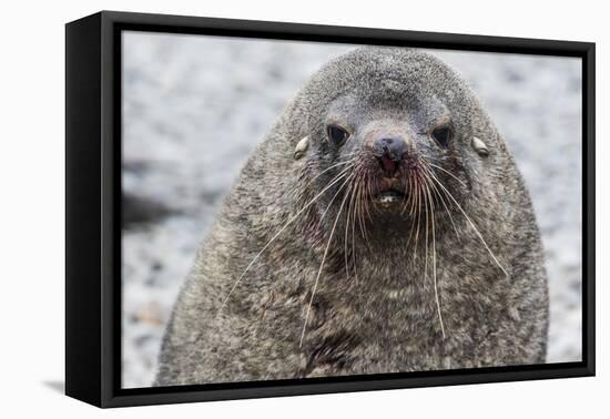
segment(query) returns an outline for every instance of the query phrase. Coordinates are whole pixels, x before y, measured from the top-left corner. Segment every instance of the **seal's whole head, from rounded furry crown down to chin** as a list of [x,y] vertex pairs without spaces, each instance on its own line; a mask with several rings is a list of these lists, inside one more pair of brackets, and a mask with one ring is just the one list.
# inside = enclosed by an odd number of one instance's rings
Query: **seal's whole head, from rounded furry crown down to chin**
[[[365,228],[382,241],[408,234],[431,213],[444,234],[450,207],[468,206],[469,194],[485,192],[480,168],[506,153],[465,82],[415,50],[369,48],[336,59],[297,98],[292,119],[303,121],[297,126],[309,145],[304,177],[316,184],[303,202],[332,184],[336,196],[316,203],[319,217],[327,213],[322,222],[332,224],[349,195],[338,228],[358,219],[360,238]],[[486,139],[487,162],[474,137]]]

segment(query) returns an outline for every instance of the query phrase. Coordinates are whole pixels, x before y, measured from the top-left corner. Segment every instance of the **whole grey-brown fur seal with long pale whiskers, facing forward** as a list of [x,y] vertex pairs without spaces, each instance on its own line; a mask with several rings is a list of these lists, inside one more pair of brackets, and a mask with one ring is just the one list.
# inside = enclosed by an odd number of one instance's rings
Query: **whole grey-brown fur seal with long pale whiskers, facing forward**
[[545,362],[529,194],[437,58],[323,67],[253,152],[202,244],[155,386]]

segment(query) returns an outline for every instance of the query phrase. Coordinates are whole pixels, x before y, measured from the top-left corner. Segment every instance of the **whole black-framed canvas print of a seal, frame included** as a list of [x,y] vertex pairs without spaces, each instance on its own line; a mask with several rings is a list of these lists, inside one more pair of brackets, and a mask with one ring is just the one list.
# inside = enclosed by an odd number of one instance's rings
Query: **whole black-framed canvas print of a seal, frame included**
[[65,391],[594,374],[594,44],[67,24]]

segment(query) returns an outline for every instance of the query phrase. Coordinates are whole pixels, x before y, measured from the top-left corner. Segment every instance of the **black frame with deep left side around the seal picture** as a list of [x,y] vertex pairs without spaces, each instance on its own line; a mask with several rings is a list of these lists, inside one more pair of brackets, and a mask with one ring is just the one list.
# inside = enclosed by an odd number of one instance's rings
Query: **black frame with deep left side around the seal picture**
[[[582,60],[582,360],[121,388],[121,31],[576,57]],[[594,375],[594,43],[102,11],[65,25],[65,394],[99,407]]]

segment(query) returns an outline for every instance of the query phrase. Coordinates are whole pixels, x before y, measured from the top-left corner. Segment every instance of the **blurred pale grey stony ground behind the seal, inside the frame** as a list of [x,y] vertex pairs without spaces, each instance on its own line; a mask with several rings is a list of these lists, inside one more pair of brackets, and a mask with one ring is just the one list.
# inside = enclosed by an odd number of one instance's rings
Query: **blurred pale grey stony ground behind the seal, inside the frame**
[[[123,387],[148,387],[197,244],[250,151],[352,45],[130,32],[123,39]],[[576,59],[431,51],[514,152],[549,274],[549,362],[581,356],[581,91]]]

